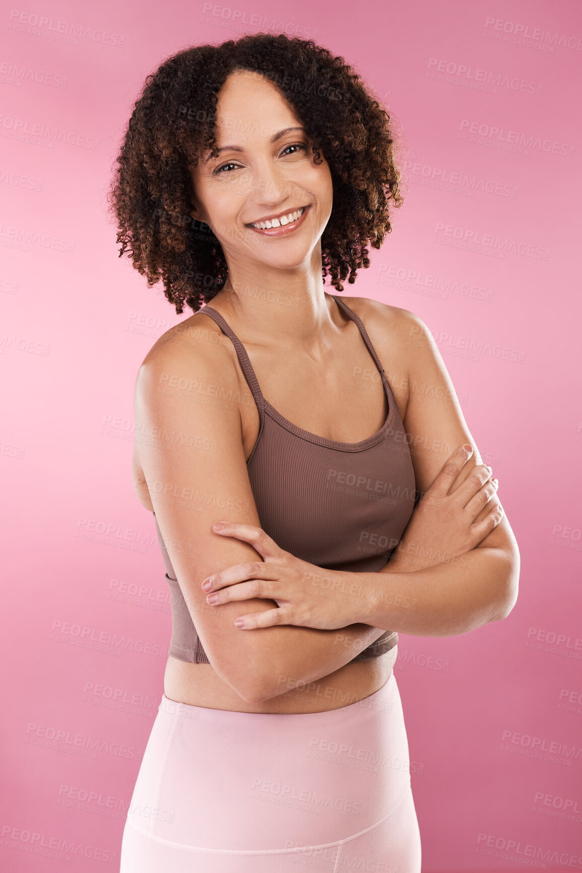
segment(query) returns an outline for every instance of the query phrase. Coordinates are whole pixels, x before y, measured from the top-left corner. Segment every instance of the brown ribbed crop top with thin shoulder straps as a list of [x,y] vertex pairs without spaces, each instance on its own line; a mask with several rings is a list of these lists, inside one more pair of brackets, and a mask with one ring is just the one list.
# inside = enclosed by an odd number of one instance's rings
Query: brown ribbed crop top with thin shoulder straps
[[[210,306],[198,312],[209,315],[232,340],[257,403],[259,431],[247,471],[265,533],[278,546],[316,567],[378,573],[398,545],[414,510],[414,469],[392,389],[366,328],[344,300],[330,296],[359,327],[387,395],[386,421],[377,433],[359,443],[327,439],[284,418],[264,399],[243,343],[223,316]],[[155,528],[172,599],[169,654],[189,663],[209,663],[157,519]],[[396,643],[397,633],[386,631],[353,661],[383,655]]]

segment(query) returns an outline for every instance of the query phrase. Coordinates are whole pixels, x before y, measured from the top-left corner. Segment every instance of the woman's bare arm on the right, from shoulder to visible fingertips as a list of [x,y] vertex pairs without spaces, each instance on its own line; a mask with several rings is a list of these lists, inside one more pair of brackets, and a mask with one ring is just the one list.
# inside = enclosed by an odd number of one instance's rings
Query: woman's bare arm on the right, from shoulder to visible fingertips
[[[493,499],[494,489],[483,487],[482,494],[484,468],[441,355],[421,320],[406,310],[397,312],[401,325],[393,337],[396,333],[401,347],[395,354],[401,360],[408,355],[409,395],[401,416],[407,443],[412,447],[417,489],[421,493],[428,491],[457,446],[472,444],[473,457],[460,472],[458,468],[452,471],[455,478],[450,478],[448,491],[466,491],[462,487],[465,480],[482,477],[477,485],[480,495],[484,495],[483,508],[477,512],[476,521],[486,527],[483,519],[490,510],[487,502]],[[368,323],[381,330],[381,318]],[[414,338],[413,353],[407,352],[407,337]],[[380,342],[374,345],[380,347]],[[481,472],[476,470],[477,465]],[[355,621],[418,636],[450,636],[508,615],[517,600],[519,552],[506,515],[501,521],[497,515],[490,533],[485,527],[483,535],[480,533],[478,546],[468,546],[453,560],[436,556],[439,538],[448,540],[448,519],[439,518],[439,526],[421,525],[419,532],[414,518],[418,516],[413,513],[398,549],[380,573],[328,571],[312,566],[305,569],[297,560],[279,560],[275,556],[270,565],[261,564],[250,571],[227,568],[216,584],[221,589],[218,602],[250,596],[276,598],[278,608],[261,615],[248,611],[244,614],[246,629],[276,624],[338,629]],[[451,524],[454,521],[450,519]],[[240,527],[224,533],[260,544],[257,531]],[[435,534],[437,529],[440,533]]]

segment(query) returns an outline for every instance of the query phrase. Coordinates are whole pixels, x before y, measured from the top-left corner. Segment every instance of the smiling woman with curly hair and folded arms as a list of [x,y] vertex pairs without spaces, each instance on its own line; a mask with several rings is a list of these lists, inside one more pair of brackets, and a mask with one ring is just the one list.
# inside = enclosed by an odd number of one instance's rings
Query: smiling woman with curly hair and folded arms
[[121,873],[418,873],[397,631],[502,619],[518,553],[423,322],[324,290],[401,203],[389,117],[258,34],[147,77],[118,160],[121,253],[195,313],[136,381],[173,636]]

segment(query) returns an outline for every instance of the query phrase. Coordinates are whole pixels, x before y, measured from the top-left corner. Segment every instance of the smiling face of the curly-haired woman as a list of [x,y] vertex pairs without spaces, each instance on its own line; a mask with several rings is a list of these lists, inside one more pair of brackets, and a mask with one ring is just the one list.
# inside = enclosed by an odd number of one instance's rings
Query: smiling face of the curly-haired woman
[[320,258],[332,176],[321,152],[322,163],[313,163],[302,122],[269,79],[229,75],[218,94],[216,147],[216,158],[206,152],[190,168],[190,214],[213,230],[229,269],[297,268],[312,263],[314,250]]

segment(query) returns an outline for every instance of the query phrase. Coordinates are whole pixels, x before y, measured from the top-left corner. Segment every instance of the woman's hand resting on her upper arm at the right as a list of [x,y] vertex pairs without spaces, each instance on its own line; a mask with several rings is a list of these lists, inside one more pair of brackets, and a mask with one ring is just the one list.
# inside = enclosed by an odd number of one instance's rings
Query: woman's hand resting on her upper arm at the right
[[[455,562],[455,557],[472,551],[499,524],[503,508],[497,498],[498,483],[491,479],[490,467],[479,464],[449,493],[471,455],[472,450],[459,446],[448,457],[414,509],[388,561],[387,572],[412,572],[447,561]],[[489,512],[476,522],[483,506],[488,506]]]

